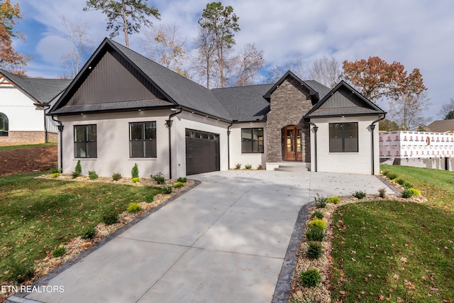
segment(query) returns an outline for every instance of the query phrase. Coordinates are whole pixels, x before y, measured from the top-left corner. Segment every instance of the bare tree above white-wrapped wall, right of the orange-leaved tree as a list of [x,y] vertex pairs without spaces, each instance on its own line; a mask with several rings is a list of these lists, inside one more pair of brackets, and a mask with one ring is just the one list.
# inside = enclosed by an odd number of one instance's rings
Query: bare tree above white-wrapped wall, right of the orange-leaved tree
[[424,117],[430,105],[426,93],[411,94],[390,102],[389,113],[402,131],[410,131],[430,120]]

